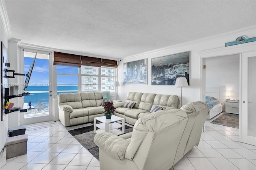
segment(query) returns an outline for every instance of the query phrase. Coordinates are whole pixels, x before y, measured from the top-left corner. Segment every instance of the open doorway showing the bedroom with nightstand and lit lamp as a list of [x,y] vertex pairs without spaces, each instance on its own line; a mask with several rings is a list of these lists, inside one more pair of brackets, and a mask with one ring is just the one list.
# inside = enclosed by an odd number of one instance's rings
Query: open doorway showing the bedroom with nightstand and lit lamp
[[210,111],[210,113],[215,113],[214,117],[210,119],[210,122],[213,121],[212,123],[239,128],[239,63],[239,54],[205,59],[206,92],[210,87],[212,88],[209,90],[214,87],[219,87],[221,90],[216,90],[215,93],[206,93],[206,96],[214,94],[214,98],[216,98],[216,103],[211,102],[211,104],[216,104]]

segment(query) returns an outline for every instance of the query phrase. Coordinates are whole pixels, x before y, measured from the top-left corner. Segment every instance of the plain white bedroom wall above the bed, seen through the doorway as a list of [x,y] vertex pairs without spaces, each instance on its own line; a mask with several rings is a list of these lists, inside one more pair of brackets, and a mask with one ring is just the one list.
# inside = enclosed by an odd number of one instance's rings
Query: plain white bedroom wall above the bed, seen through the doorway
[[206,87],[226,86],[230,99],[239,99],[239,54],[206,58]]

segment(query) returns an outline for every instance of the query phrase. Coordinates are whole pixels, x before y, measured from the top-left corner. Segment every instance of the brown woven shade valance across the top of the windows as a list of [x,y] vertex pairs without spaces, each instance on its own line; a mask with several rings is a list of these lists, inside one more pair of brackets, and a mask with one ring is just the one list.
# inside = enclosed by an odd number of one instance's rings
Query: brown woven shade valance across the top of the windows
[[81,67],[81,65],[88,65],[93,67],[117,67],[116,60],[60,53],[55,51],[53,64],[76,67]]

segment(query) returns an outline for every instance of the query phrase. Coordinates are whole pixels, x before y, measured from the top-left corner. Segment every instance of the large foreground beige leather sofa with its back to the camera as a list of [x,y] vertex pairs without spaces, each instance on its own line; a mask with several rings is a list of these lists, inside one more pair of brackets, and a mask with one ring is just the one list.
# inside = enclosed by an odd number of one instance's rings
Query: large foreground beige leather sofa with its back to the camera
[[140,117],[132,132],[94,136],[101,170],[169,170],[200,140],[209,111],[203,102]]

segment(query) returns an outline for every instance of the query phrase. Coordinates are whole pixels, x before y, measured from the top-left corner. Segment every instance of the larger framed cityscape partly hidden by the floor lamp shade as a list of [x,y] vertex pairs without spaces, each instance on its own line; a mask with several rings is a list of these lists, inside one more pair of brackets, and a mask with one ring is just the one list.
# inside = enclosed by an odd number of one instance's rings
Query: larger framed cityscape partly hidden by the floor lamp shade
[[190,51],[151,59],[151,85],[175,85],[178,77],[190,85]]

